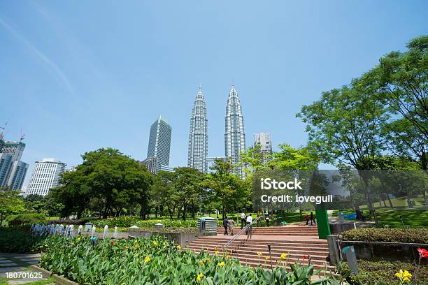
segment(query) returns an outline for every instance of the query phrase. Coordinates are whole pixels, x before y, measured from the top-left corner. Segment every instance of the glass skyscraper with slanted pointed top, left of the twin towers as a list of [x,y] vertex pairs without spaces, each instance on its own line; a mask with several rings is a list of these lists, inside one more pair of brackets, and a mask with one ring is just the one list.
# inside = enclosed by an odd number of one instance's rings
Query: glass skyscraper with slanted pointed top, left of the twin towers
[[171,149],[172,128],[166,119],[159,116],[150,127],[147,157],[156,157],[158,168],[169,166],[169,151]]

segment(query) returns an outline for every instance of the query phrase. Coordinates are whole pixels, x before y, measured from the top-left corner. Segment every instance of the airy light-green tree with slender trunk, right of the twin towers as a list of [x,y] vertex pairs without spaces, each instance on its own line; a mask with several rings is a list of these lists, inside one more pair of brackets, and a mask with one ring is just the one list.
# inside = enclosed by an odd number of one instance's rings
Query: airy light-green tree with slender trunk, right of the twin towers
[[[373,168],[373,157],[384,149],[380,126],[388,114],[383,104],[359,87],[350,86],[323,92],[319,101],[304,105],[297,117],[307,124],[311,145],[315,145],[324,162],[348,164],[362,176],[370,212],[377,217],[364,170]],[[360,171],[361,170],[361,171]]]

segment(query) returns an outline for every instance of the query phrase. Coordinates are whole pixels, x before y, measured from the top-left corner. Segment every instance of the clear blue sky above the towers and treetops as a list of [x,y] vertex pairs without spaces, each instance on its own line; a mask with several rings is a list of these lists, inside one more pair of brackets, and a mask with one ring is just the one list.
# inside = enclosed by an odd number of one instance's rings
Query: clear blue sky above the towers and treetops
[[0,124],[23,161],[115,147],[145,159],[158,115],[187,163],[199,82],[210,156],[224,154],[234,82],[247,145],[306,143],[301,105],[427,34],[427,1],[0,1]]

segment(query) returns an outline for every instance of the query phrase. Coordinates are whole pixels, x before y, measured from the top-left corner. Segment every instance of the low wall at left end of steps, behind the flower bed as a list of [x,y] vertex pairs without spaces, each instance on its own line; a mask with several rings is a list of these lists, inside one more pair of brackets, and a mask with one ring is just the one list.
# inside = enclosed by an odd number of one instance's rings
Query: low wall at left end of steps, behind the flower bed
[[171,240],[176,244],[180,244],[180,247],[187,247],[190,242],[196,240],[199,236],[206,235],[217,235],[217,233],[171,233],[162,231],[147,231],[141,228],[130,229],[127,232],[133,237],[145,237],[149,238],[150,235],[163,235],[167,240]]

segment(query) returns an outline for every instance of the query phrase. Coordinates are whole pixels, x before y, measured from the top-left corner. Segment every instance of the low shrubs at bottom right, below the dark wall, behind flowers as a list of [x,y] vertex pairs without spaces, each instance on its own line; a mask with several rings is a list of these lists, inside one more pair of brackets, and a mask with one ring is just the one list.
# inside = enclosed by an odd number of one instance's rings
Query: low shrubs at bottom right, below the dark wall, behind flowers
[[[345,270],[348,265],[343,263]],[[358,274],[350,275],[347,281],[351,285],[400,284],[395,273],[399,270],[408,270],[414,277],[415,265],[402,261],[358,261]],[[412,280],[413,282],[414,280]],[[414,282],[412,284],[415,284]],[[418,273],[418,284],[428,284],[428,265],[422,265]]]

